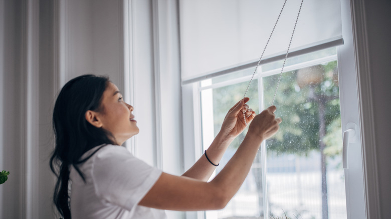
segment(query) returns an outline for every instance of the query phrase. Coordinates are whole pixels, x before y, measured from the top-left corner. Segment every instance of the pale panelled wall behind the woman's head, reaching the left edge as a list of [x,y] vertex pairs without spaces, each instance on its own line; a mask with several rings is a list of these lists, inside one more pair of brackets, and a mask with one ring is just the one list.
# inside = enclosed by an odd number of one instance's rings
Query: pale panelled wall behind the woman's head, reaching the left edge
[[[0,218],[53,218],[52,110],[70,78],[123,89],[122,0],[0,1]],[[111,14],[101,16],[101,14]]]

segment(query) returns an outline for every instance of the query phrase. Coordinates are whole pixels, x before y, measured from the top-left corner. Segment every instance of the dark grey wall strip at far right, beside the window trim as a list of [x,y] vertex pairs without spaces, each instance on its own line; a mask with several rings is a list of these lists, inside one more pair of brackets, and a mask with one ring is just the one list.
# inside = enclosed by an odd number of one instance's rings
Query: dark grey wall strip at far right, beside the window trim
[[381,218],[391,218],[391,1],[365,0]]

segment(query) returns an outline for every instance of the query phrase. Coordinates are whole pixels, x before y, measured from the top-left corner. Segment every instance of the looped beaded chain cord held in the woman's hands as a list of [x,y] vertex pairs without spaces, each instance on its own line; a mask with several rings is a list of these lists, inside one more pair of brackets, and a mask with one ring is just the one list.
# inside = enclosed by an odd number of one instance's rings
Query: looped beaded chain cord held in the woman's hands
[[[254,72],[253,72],[253,75],[251,76],[251,79],[250,79],[249,85],[247,85],[247,88],[246,88],[246,91],[245,91],[245,93],[244,93],[244,95],[243,95],[243,98],[245,98],[245,97],[246,97],[246,93],[247,93],[247,91],[249,90],[249,87],[250,87],[251,81],[253,80],[253,77],[254,77],[255,73],[257,72],[258,66],[259,66],[259,64],[261,63],[261,60],[262,60],[263,54],[265,53],[266,47],[268,46],[268,44],[269,44],[269,41],[270,41],[270,38],[271,38],[271,37],[272,37],[272,35],[273,35],[274,29],[276,28],[276,25],[277,25],[277,23],[278,23],[278,20],[280,19],[280,16],[281,16],[282,10],[283,10],[283,9],[284,9],[284,7],[285,7],[285,3],[286,3],[286,1],[287,1],[287,0],[285,0],[285,1],[284,1],[284,4],[282,5],[281,11],[280,11],[280,13],[278,14],[278,17],[277,17],[276,23],[274,24],[274,27],[273,27],[273,29],[272,29],[272,32],[271,32],[271,33],[270,33],[270,35],[269,35],[268,41],[266,42],[266,45],[265,45],[265,47],[264,47],[264,49],[263,49],[263,51],[262,51],[261,57],[259,58],[259,60],[258,60],[258,63],[257,63],[257,66],[255,67],[255,70],[254,70]],[[291,35],[291,38],[290,38],[290,40],[289,40],[288,49],[287,49],[287,51],[286,51],[286,54],[285,54],[284,63],[282,64],[282,67],[281,67],[281,73],[280,73],[280,76],[279,76],[279,78],[278,78],[278,82],[277,82],[276,90],[275,90],[275,92],[274,92],[274,96],[273,96],[273,100],[272,100],[272,103],[271,103],[271,105],[273,105],[273,104],[274,104],[274,99],[276,98],[277,89],[278,89],[278,86],[280,85],[280,81],[281,81],[282,72],[283,72],[283,70],[284,70],[284,66],[285,66],[286,59],[288,58],[289,49],[290,49],[290,47],[291,47],[292,38],[293,38],[293,35],[294,35],[294,33],[295,33],[295,29],[296,29],[296,25],[297,25],[297,20],[299,19],[299,15],[300,15],[300,11],[301,11],[301,7],[302,7],[302,5],[303,5],[303,0],[301,0],[301,3],[300,3],[300,8],[299,8],[299,12],[297,13],[297,16],[296,16],[295,25],[294,25],[294,27],[293,27],[292,35]],[[244,111],[244,112],[243,112],[243,118],[244,118],[245,124],[246,124],[246,126],[247,126],[247,120],[246,120],[246,111]]]

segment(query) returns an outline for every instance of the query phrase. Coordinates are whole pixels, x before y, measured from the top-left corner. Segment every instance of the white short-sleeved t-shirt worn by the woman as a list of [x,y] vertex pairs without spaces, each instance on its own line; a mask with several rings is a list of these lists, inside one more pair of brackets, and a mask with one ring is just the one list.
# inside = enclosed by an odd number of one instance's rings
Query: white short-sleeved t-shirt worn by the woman
[[[99,146],[83,154],[82,159]],[[88,218],[166,218],[164,210],[140,206],[161,174],[134,157],[125,147],[106,145],[79,165],[86,182],[72,166],[71,214],[73,219]]]

